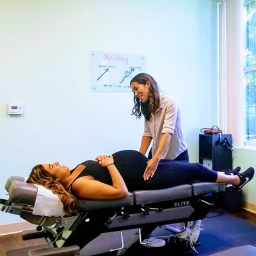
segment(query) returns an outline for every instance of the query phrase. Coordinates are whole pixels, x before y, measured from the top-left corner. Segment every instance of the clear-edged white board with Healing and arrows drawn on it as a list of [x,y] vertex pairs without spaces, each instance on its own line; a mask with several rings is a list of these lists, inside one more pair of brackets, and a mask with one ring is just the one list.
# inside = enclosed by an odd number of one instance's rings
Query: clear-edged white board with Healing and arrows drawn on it
[[130,81],[145,73],[145,57],[120,52],[91,52],[92,92],[131,92]]

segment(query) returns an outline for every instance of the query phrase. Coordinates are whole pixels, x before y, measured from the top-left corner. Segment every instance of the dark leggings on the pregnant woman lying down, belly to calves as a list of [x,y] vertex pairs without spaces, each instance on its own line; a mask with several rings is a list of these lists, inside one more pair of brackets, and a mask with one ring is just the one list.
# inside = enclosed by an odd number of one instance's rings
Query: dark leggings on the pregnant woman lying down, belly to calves
[[139,189],[164,189],[194,180],[216,182],[216,171],[199,163],[188,161],[161,160],[154,177],[144,180],[143,173],[147,167],[148,158],[135,150],[123,150],[113,154],[118,168],[129,191]]

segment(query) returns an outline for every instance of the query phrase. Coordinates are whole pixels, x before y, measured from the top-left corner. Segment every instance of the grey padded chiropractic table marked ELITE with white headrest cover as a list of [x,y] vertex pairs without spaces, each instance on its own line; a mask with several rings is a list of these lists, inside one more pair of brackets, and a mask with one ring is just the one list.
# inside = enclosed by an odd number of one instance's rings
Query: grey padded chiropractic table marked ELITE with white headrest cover
[[[100,234],[114,231],[120,231],[122,246],[113,248],[111,255],[124,255],[159,225],[204,219],[217,193],[225,191],[225,184],[212,182],[133,191],[116,200],[77,200],[76,212],[67,216],[57,195],[25,181],[18,176],[7,180],[9,198],[0,199],[0,211],[38,225],[22,232],[22,239],[44,237],[49,247],[28,250],[29,256],[75,256]],[[132,228],[138,232],[124,244],[122,230]]]

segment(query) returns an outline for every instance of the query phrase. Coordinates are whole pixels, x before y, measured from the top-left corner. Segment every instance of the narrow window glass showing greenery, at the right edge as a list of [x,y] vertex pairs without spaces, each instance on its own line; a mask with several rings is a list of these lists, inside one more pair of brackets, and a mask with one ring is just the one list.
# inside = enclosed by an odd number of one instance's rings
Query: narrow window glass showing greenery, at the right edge
[[256,3],[244,0],[246,141],[256,142]]

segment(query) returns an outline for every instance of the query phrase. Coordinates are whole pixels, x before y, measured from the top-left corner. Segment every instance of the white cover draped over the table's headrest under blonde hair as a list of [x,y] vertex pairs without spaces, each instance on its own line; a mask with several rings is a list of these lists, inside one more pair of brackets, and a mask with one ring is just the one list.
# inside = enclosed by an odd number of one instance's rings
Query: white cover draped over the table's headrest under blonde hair
[[33,184],[38,188],[33,214],[41,216],[64,216],[63,204],[60,197],[50,189]]

